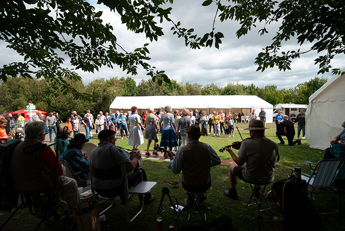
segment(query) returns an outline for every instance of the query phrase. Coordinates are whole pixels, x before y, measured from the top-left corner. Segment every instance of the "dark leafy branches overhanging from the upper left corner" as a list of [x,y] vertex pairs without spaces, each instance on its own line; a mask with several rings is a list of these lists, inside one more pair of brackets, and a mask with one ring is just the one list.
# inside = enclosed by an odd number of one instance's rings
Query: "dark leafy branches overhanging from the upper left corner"
[[[160,7],[164,0],[99,0],[98,4],[101,3],[116,10],[128,30],[145,33],[151,41],[163,35],[156,17],[163,20],[171,10]],[[78,81],[81,77],[73,69],[63,67],[65,60],[59,54],[64,53],[75,69],[94,72],[102,66],[117,65],[135,75],[138,66],[142,66],[153,80],[158,78],[159,84],[162,80],[170,82],[164,71],[146,63],[150,59],[148,44],[132,52],[123,49],[113,27],[100,18],[102,12],[96,12],[86,0],[3,0],[0,6],[0,39],[24,57],[23,63],[0,69],[4,81],[7,76],[18,74],[27,78],[42,76],[62,85],[64,93],[74,91],[76,97],[81,97],[66,81]]]

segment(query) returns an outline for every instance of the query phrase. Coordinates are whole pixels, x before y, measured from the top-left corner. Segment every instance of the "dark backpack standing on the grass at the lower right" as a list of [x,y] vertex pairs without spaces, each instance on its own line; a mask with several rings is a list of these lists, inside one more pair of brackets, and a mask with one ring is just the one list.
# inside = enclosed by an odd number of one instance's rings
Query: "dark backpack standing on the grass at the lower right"
[[301,180],[298,184],[295,175],[283,182],[280,212],[284,231],[322,231],[320,215],[308,198],[307,182]]

